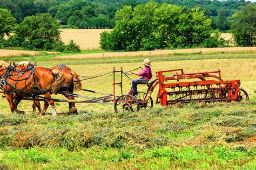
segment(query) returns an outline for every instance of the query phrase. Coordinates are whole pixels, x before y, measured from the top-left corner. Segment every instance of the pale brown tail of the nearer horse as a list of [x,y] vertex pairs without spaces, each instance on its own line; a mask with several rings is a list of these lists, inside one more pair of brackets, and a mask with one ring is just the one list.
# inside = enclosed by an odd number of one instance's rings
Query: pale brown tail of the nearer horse
[[59,70],[52,70],[52,75],[54,77],[54,81],[51,84],[51,93],[56,94],[57,91],[65,84],[65,76],[63,73],[59,72]]

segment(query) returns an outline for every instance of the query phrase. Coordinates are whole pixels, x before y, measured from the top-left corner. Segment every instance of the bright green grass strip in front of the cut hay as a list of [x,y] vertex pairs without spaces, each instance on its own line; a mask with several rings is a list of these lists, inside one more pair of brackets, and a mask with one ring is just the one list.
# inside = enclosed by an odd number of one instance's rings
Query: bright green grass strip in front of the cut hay
[[0,159],[0,167],[8,168],[248,168],[253,169],[253,150],[208,147],[154,147],[145,151],[105,148],[65,148],[29,150],[7,148]]

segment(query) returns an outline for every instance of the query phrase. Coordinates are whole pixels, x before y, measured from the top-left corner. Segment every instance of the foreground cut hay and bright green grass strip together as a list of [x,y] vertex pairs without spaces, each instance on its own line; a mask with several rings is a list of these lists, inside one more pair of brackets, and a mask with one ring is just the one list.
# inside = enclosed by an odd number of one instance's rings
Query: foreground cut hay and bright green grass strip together
[[0,114],[0,165],[250,169],[255,166],[255,143],[249,140],[255,140],[255,119],[253,102],[58,117]]

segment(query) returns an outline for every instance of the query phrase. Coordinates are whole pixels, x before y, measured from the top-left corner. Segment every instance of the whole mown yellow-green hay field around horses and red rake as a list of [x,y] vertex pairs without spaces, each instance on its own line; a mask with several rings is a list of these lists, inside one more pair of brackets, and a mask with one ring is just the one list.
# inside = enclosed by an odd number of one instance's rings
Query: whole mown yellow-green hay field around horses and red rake
[[[150,111],[120,114],[113,111],[113,104],[77,104],[78,115],[67,114],[68,104],[56,103],[58,117],[39,117],[32,115],[32,103],[23,101],[19,108],[25,115],[11,114],[3,98],[0,169],[253,169],[256,167],[255,58],[256,53],[151,56],[153,72],[175,68],[184,68],[185,73],[220,69],[224,80],[241,80],[241,88],[251,99],[244,103],[188,103],[165,108],[155,105]],[[144,57],[54,60],[46,55],[38,59],[40,66],[65,63],[79,75],[95,76],[110,72],[113,67],[137,68]],[[126,92],[131,85],[129,79],[124,80]],[[109,74],[83,81],[83,88],[112,93],[111,83]],[[143,85],[138,88],[146,90]]]

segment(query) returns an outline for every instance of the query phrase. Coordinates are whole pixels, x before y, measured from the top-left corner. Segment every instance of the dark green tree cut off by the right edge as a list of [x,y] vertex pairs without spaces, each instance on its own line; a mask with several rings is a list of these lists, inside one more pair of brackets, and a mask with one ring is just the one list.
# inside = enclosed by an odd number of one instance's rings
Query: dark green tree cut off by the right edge
[[232,24],[232,35],[239,46],[254,46],[256,44],[256,5],[248,4],[235,13],[236,22]]

